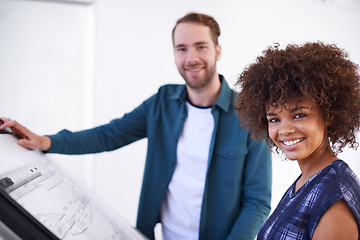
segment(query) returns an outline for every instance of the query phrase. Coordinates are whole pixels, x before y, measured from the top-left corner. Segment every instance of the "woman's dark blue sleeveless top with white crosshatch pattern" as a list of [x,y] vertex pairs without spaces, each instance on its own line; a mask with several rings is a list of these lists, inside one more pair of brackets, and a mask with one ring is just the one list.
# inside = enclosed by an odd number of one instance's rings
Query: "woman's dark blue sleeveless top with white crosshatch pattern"
[[258,240],[311,239],[321,216],[340,199],[360,228],[360,180],[344,161],[332,162],[293,193],[296,181],[261,227]]

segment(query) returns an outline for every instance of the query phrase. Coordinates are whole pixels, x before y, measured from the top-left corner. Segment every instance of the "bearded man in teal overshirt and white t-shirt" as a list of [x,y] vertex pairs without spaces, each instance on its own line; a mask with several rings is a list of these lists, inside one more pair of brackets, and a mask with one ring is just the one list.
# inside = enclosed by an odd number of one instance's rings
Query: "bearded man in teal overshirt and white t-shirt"
[[49,153],[118,149],[148,138],[137,228],[150,239],[162,223],[167,239],[254,239],[270,212],[271,155],[250,138],[233,107],[234,92],[217,74],[220,28],[190,13],[173,29],[174,55],[185,85],[165,85],[132,112],[80,132],[38,136],[19,144]]

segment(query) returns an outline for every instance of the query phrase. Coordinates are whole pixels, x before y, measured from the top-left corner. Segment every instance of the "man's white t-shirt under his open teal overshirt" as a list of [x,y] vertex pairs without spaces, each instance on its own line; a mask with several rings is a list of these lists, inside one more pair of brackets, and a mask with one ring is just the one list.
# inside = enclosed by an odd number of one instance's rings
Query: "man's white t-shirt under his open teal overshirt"
[[164,240],[199,238],[214,118],[210,107],[186,105],[188,117],[177,145],[177,165],[161,208]]

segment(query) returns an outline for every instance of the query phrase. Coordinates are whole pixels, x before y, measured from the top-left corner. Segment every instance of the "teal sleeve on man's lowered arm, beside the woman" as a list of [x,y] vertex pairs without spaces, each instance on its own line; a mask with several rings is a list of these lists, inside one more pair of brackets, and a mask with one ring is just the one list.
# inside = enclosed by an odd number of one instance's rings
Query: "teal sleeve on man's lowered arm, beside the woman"
[[266,143],[249,139],[243,178],[243,206],[228,240],[255,239],[268,217],[271,209],[271,161],[271,152]]

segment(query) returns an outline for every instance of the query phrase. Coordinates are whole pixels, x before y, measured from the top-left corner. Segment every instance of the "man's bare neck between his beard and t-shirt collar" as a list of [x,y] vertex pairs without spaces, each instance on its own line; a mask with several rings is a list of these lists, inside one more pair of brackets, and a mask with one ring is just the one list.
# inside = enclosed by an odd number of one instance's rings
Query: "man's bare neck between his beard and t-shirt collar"
[[186,86],[189,100],[196,106],[208,107],[215,104],[220,94],[221,82],[219,75],[216,74],[214,79],[206,86],[200,89],[193,89]]

